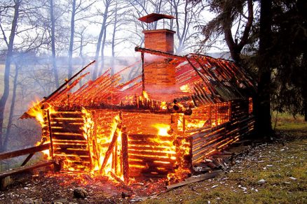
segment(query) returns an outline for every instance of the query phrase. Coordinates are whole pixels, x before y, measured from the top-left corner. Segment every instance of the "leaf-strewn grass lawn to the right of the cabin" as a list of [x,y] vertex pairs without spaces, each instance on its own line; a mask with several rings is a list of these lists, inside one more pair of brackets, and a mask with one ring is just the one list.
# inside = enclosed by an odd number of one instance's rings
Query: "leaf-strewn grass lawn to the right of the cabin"
[[276,130],[281,140],[252,147],[219,177],[144,203],[307,203],[307,123],[283,114]]

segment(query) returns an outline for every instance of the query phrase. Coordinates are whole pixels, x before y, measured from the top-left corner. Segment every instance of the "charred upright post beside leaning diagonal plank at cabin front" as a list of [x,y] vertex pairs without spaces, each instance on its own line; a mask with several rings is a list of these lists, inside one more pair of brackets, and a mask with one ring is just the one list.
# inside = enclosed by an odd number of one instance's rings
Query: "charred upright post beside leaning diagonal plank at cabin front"
[[127,129],[123,128],[121,134],[121,156],[123,160],[123,179],[126,184],[129,182],[129,163],[128,163],[128,136]]

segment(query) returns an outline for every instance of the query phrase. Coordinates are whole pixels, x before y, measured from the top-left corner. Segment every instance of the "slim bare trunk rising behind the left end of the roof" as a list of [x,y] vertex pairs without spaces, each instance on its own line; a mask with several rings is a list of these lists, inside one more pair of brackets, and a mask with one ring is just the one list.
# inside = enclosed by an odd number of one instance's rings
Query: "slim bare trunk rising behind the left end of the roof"
[[53,75],[55,77],[55,86],[60,87],[59,76],[57,75],[57,64],[55,61],[55,15],[53,12],[53,0],[50,0],[50,20],[51,20],[51,52],[52,52]]

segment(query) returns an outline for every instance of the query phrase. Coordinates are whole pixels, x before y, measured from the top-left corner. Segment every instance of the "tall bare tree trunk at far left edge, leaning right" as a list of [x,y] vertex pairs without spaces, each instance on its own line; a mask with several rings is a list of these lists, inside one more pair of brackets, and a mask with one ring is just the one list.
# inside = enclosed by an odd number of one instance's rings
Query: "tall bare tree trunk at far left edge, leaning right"
[[11,27],[10,39],[8,42],[8,52],[6,53],[6,66],[4,70],[4,94],[0,99],[0,152],[4,151],[3,143],[2,143],[2,133],[3,133],[3,125],[4,125],[4,110],[6,108],[6,101],[8,101],[8,95],[10,91],[10,70],[11,70],[11,60],[13,58],[13,44],[15,33],[17,29],[17,22],[19,17],[19,6],[20,1],[15,1],[14,8],[14,17]]

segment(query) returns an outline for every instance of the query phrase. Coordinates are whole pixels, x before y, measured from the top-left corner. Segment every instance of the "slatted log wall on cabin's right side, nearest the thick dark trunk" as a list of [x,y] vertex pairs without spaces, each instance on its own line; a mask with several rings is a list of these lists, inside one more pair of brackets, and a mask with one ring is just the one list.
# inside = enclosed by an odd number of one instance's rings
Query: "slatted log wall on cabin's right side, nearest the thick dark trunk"
[[[215,107],[221,108],[223,106],[216,105]],[[226,104],[224,107],[226,107]],[[230,115],[227,115],[226,108],[223,110],[223,114],[230,119],[228,119],[228,122],[222,122],[219,125],[212,124],[212,128],[203,129],[190,136],[192,139],[193,164],[202,161],[208,154],[221,150],[252,132],[254,117],[249,114],[248,100],[231,101],[228,112],[230,112]],[[219,111],[214,112],[212,121],[215,118],[214,115],[219,115]],[[219,115],[219,117],[222,117],[222,115]]]

